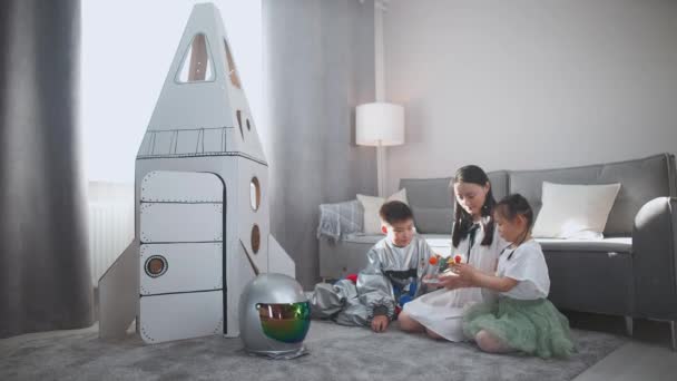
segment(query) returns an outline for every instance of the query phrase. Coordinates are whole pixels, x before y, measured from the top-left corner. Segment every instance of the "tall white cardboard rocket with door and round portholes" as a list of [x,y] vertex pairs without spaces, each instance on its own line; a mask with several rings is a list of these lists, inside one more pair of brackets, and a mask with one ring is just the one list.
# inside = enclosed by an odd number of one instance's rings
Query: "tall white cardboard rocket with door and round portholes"
[[136,246],[128,251],[138,255],[145,342],[236,336],[247,282],[258,272],[294,276],[269,236],[267,186],[220,13],[197,4],[136,160]]

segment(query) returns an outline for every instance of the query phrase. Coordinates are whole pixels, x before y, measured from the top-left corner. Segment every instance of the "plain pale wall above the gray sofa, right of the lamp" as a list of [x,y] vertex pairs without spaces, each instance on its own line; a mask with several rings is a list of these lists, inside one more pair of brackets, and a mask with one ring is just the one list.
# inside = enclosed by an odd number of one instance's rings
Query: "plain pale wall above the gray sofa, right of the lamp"
[[401,177],[677,153],[677,1],[394,0],[389,101]]

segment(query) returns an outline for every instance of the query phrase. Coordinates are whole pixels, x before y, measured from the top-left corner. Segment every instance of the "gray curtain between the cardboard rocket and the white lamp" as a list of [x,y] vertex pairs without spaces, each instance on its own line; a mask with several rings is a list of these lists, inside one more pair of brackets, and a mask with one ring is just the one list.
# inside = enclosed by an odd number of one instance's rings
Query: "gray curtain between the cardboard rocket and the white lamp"
[[355,106],[374,101],[374,4],[264,0],[263,25],[271,232],[308,290],[318,205],[376,193],[375,150],[354,131]]

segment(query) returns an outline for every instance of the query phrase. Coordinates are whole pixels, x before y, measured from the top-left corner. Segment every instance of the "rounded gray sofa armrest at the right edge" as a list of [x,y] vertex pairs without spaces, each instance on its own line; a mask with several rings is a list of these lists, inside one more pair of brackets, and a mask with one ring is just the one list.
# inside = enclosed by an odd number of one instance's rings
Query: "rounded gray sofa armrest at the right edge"
[[637,316],[677,320],[677,198],[658,197],[635,216],[632,267]]

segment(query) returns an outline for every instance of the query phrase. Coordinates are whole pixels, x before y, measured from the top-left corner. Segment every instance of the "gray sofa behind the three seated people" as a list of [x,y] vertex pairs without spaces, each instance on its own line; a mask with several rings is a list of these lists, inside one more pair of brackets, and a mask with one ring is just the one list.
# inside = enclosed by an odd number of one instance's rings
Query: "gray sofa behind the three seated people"
[[[489,174],[497,199],[520,193],[541,207],[542,182],[560,184],[620,183],[599,241],[538,240],[551,279],[550,300],[562,310],[669,321],[677,345],[677,180],[675,157],[539,170]],[[451,178],[402,179],[416,229],[434,248],[448,246],[453,214]],[[359,272],[365,253],[382,236],[352,235],[320,241],[320,272],[340,279]]]

